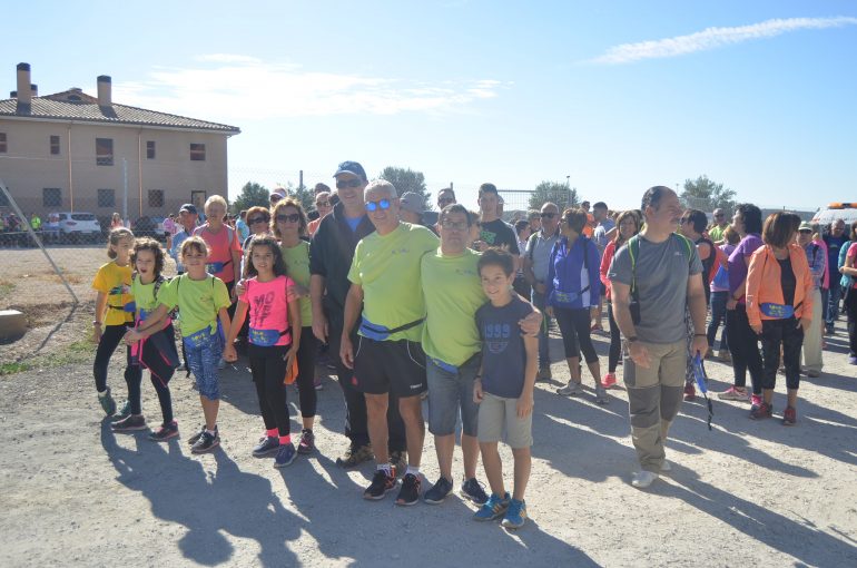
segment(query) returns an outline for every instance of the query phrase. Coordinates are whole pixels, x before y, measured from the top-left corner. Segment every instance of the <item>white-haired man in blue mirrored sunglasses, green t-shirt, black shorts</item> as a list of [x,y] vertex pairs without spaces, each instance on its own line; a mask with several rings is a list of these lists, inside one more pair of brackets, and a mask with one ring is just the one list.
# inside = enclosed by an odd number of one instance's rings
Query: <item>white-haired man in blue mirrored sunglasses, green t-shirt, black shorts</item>
[[[420,395],[426,390],[421,345],[425,301],[420,263],[437,248],[437,237],[422,225],[400,221],[396,188],[380,179],[366,188],[366,212],[375,233],[357,243],[348,271],[344,330],[359,321],[359,337],[343,331],[339,356],[354,370],[355,386],[366,395],[370,438],[377,470],[363,493],[378,500],[393,490],[396,471],[387,460],[387,410],[397,404],[407,437],[407,471],[396,505],[420,499],[420,461],[425,424]],[[398,399],[396,401],[396,398]]]

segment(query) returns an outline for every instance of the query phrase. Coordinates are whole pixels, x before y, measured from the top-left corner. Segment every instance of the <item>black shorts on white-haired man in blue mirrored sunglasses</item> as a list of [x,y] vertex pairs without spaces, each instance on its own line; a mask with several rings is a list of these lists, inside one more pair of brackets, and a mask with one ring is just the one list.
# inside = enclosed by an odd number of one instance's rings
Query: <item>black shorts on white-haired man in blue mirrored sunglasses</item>
[[375,341],[361,336],[354,354],[355,388],[366,394],[415,396],[428,388],[420,343]]

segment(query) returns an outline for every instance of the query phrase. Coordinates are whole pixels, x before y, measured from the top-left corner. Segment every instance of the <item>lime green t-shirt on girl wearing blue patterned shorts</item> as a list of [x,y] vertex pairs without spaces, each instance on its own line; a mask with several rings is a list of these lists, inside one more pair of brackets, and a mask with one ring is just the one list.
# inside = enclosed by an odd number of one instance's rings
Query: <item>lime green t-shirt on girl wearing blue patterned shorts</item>
[[[199,330],[217,330],[217,314],[221,307],[229,307],[229,292],[220,278],[210,274],[205,280],[190,280],[183,274],[160,287],[158,302],[170,310],[178,306],[181,335],[187,337]],[[226,332],[228,330],[224,330]]]

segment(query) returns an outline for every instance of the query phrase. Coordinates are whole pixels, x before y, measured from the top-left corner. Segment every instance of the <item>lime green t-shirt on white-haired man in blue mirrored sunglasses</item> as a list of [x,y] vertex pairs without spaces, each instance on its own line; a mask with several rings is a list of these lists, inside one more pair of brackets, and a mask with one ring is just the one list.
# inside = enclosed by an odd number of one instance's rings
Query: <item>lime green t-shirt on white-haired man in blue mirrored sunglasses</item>
[[[427,228],[400,223],[392,233],[377,233],[357,243],[348,281],[363,287],[363,316],[390,330],[425,317],[420,292],[420,259],[437,248]],[[420,341],[422,325],[393,333],[388,341]]]

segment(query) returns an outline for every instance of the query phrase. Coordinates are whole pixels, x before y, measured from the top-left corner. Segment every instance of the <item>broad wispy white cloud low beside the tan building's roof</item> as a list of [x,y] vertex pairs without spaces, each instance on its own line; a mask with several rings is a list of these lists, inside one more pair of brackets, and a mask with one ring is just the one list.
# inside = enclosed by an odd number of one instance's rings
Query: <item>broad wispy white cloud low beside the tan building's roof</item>
[[[309,71],[294,63],[210,53],[197,68],[156,68],[149,79],[114,85],[114,100],[216,120],[344,114],[455,112],[499,96],[498,80],[425,84]],[[217,117],[217,118],[214,118]]]

